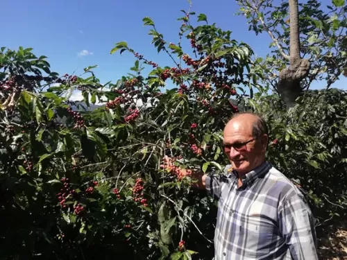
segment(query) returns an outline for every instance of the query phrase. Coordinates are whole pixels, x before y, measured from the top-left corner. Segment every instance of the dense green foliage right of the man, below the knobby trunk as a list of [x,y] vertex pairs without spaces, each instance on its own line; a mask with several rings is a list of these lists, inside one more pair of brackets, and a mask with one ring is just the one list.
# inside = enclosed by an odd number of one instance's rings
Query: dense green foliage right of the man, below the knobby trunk
[[277,95],[256,95],[251,101],[271,126],[271,162],[301,184],[320,224],[343,217],[347,205],[346,91],[309,91],[288,113],[281,103]]

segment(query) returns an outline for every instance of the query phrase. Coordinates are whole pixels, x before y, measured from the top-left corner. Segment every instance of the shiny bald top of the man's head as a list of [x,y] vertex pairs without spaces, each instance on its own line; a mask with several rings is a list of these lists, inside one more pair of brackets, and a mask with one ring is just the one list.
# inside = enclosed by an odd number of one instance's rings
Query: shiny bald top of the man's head
[[234,114],[226,124],[224,131],[228,132],[230,128],[242,128],[239,130],[243,130],[252,137],[269,135],[269,130],[264,119],[250,112]]

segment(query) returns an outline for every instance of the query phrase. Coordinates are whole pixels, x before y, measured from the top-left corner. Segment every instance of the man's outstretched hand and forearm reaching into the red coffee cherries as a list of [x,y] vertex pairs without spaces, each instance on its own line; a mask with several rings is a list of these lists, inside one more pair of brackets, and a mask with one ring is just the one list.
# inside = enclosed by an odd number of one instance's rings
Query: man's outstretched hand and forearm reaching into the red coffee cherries
[[162,158],[164,164],[160,165],[162,168],[166,168],[169,171],[175,171],[179,178],[183,178],[185,176],[190,176],[192,179],[198,180],[197,183],[192,184],[193,187],[197,187],[198,189],[205,189],[206,186],[206,175],[201,172],[192,171],[189,169],[178,168],[174,166],[174,159],[165,155]]

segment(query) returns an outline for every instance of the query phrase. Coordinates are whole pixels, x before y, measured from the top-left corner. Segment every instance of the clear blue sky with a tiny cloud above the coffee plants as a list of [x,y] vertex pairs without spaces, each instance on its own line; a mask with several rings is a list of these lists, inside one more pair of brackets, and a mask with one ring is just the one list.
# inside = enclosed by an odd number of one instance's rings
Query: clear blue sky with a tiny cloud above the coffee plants
[[[328,1],[328,0],[324,0]],[[246,18],[235,15],[239,10],[236,1],[193,0],[192,10],[204,13],[210,24],[232,31],[231,37],[250,44],[257,56],[269,53],[269,35],[255,35],[248,31]],[[151,45],[149,27],[143,17],[151,17],[168,42],[178,42],[178,30],[187,10],[187,0],[11,0],[1,3],[0,46],[10,49],[31,47],[35,55],[46,55],[52,71],[61,75],[79,74],[83,68],[97,64],[94,69],[101,83],[114,83],[130,72],[135,58],[130,53],[110,55],[115,43],[126,41],[130,48],[157,62],[171,66],[172,62],[158,54]],[[342,84],[343,83],[343,84]],[[346,85],[346,78],[334,87]],[[315,83],[314,88],[324,87]],[[346,88],[346,87],[344,87]],[[78,93],[74,93],[78,96]]]

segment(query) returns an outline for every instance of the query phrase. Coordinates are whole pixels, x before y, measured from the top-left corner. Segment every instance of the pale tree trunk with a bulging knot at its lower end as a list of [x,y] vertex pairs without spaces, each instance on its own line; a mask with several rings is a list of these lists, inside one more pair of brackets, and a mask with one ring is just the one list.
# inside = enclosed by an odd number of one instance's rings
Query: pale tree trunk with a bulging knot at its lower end
[[310,71],[310,62],[302,59],[300,55],[300,31],[298,0],[289,0],[290,12],[290,58],[289,67],[280,71],[278,80],[278,93],[285,101],[287,109],[295,105],[296,98],[301,96],[301,80],[305,78]]

